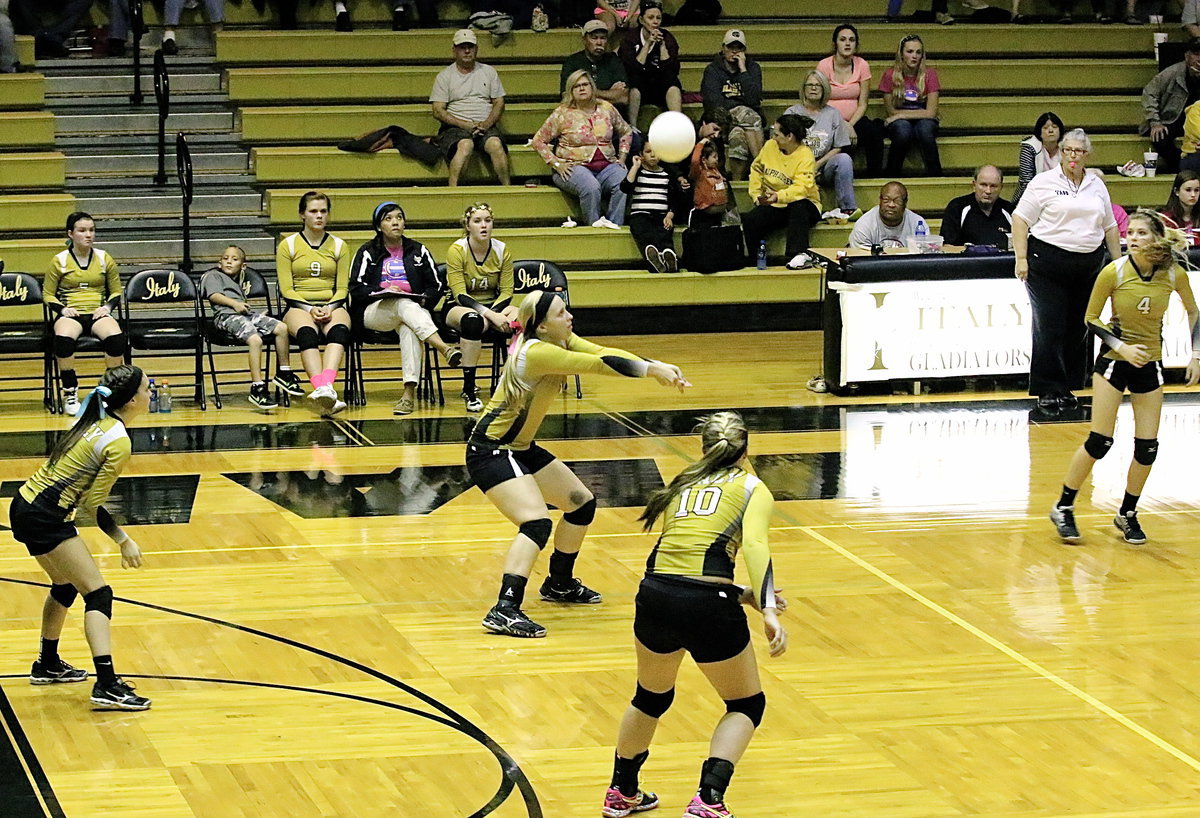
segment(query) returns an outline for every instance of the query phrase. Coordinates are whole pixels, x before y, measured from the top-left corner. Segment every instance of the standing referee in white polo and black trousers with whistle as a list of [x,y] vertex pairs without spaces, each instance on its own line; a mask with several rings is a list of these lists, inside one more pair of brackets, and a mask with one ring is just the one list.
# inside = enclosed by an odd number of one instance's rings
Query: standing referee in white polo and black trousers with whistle
[[1091,365],[1084,313],[1104,249],[1121,255],[1121,234],[1104,180],[1086,167],[1092,140],[1075,128],[1062,138],[1062,164],[1039,173],[1013,212],[1016,277],[1033,312],[1030,395],[1048,414],[1074,409],[1072,390]]

